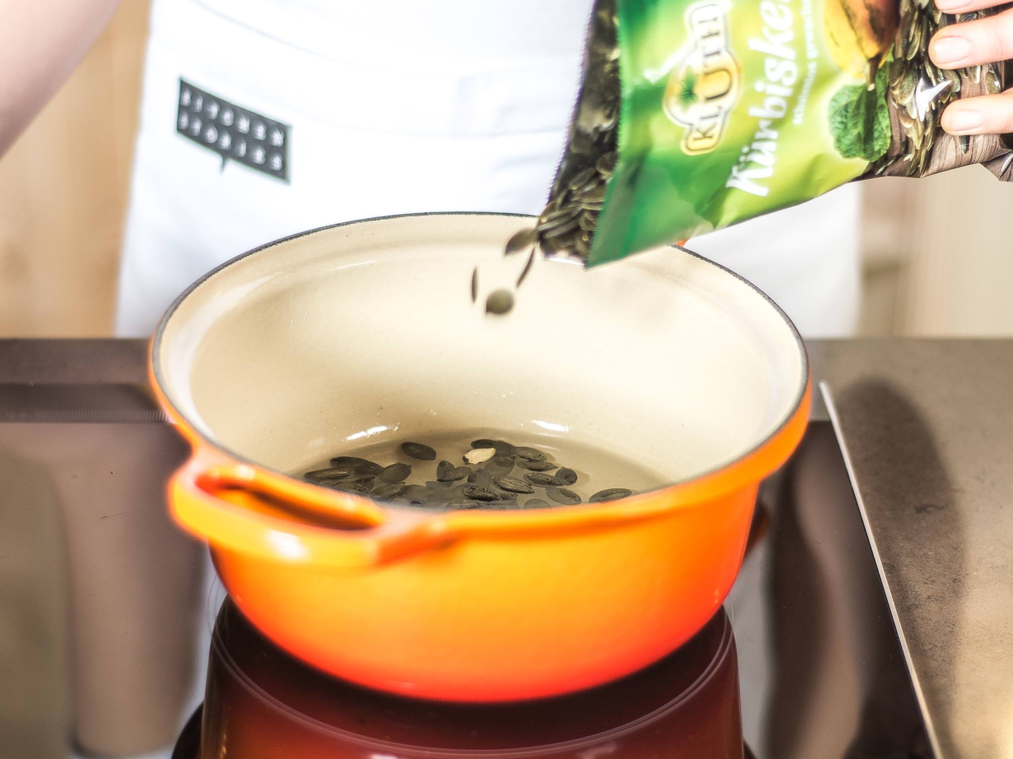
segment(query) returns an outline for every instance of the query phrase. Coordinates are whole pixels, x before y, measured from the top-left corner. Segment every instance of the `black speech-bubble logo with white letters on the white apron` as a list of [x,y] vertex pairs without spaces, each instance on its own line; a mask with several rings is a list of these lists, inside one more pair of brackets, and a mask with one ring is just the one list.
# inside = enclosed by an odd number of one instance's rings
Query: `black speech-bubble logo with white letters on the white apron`
[[236,161],[288,182],[291,129],[179,80],[176,132],[218,153],[222,168]]

